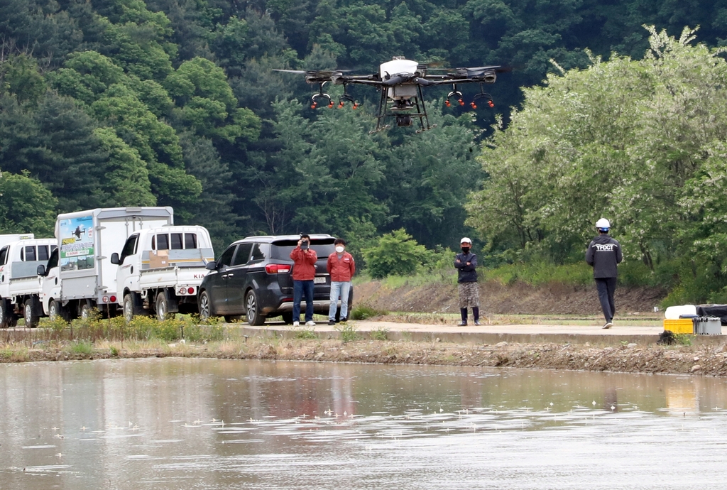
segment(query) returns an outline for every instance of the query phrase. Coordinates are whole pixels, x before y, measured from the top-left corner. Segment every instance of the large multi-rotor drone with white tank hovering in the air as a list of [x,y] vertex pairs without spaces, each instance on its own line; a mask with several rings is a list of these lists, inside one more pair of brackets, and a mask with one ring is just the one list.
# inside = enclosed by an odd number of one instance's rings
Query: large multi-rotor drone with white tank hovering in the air
[[[465,105],[462,92],[457,90],[459,84],[480,84],[480,92],[475,95],[470,107],[477,108],[479,100],[484,100],[489,107],[494,107],[492,96],[484,91],[484,84],[494,84],[499,66],[478,66],[475,68],[428,68],[416,61],[406,60],[403,56],[395,56],[393,60],[382,63],[378,73],[371,75],[348,75],[342,70],[276,70],[286,73],[300,73],[305,75],[308,84],[317,84],[318,93],[310,97],[310,108],[333,108],[336,106],[330,95],[324,92],[324,85],[332,82],[334,85],[343,85],[343,95],[339,98],[337,107],[342,108],[350,103],[352,108],[360,106],[348,94],[348,85],[361,84],[378,87],[379,112],[377,116],[377,132],[390,127],[384,124],[385,119],[392,117],[397,126],[411,126],[414,119],[419,119],[417,132],[436,127],[429,124],[427,108],[422,94],[422,87],[451,84],[452,89],[447,95],[445,105]],[[427,71],[441,71],[443,73],[427,73]]]

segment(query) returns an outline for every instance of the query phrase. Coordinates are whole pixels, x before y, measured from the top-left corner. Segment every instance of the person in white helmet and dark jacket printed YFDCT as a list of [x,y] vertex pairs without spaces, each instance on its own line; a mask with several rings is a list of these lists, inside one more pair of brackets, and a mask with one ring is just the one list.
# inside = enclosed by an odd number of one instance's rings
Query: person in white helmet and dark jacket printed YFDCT
[[598,300],[601,301],[603,316],[606,317],[604,329],[614,326],[614,292],[616,291],[616,265],[621,262],[623,255],[618,241],[608,236],[611,223],[606,218],[595,222],[598,236],[593,238],[586,250],[586,262],[593,267],[593,278],[598,289]]

